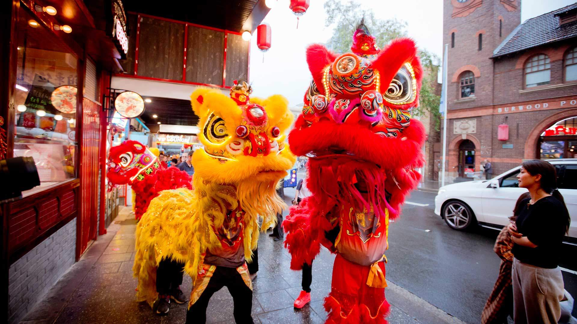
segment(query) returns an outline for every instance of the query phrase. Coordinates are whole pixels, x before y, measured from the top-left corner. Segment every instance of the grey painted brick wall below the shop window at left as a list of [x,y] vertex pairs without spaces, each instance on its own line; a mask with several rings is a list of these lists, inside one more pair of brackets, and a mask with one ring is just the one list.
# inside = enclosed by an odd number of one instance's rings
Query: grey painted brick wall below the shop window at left
[[8,278],[8,323],[18,323],[74,263],[76,218],[14,262]]

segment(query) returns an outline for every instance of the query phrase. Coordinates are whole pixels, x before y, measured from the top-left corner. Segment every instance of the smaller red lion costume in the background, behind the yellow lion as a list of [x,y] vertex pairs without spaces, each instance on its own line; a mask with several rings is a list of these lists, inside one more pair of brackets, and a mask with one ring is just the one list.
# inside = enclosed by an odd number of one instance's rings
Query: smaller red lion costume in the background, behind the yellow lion
[[130,184],[136,193],[134,216],[137,220],[160,191],[192,190],[192,178],[185,171],[176,167],[164,168],[158,157],[137,141],[124,141],[110,148],[106,178],[112,184]]

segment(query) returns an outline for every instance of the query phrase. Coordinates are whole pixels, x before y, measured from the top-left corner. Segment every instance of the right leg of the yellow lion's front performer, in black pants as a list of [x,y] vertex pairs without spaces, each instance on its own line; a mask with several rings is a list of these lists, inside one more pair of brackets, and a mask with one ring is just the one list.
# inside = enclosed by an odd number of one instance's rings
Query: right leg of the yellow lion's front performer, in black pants
[[250,312],[252,312],[252,283],[248,275],[246,266],[236,269],[226,268],[228,273],[227,288],[233,296],[234,321],[237,323],[254,323]]

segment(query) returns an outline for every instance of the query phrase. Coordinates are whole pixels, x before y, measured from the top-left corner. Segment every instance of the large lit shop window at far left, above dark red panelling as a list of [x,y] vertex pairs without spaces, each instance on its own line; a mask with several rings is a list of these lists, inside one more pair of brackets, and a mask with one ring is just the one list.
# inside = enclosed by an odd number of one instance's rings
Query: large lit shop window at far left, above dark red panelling
[[77,58],[22,6],[16,27],[14,156],[33,157],[40,186],[76,177]]

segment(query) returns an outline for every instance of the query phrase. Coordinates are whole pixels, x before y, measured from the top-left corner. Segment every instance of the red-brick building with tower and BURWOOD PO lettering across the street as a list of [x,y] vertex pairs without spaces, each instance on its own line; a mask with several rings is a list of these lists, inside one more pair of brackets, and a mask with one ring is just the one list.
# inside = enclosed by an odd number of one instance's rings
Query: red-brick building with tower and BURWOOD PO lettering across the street
[[523,159],[577,157],[577,3],[523,24],[520,10],[521,0],[444,0],[449,181],[484,159],[498,175]]

